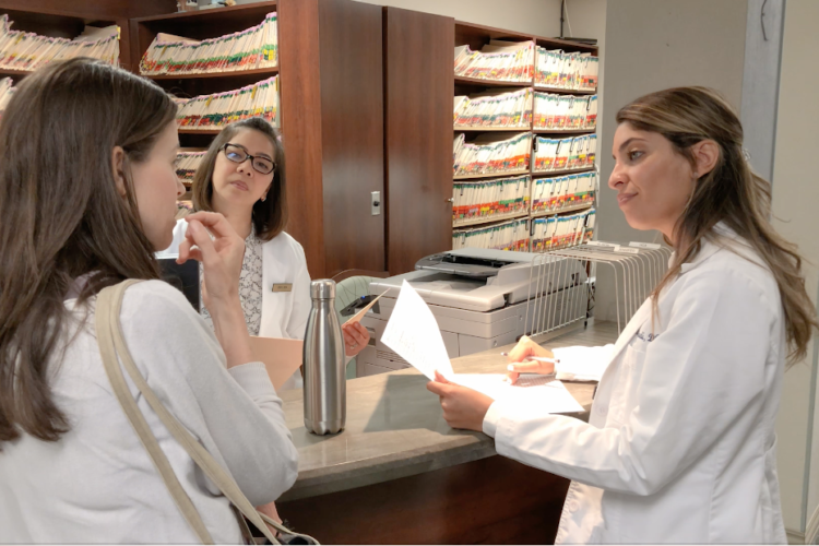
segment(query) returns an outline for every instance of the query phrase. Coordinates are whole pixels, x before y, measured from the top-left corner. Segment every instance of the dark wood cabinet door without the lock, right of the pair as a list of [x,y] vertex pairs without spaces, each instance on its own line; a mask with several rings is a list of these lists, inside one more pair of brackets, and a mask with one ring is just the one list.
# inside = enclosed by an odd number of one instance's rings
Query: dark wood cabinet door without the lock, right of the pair
[[384,8],[387,263],[452,248],[454,20]]

